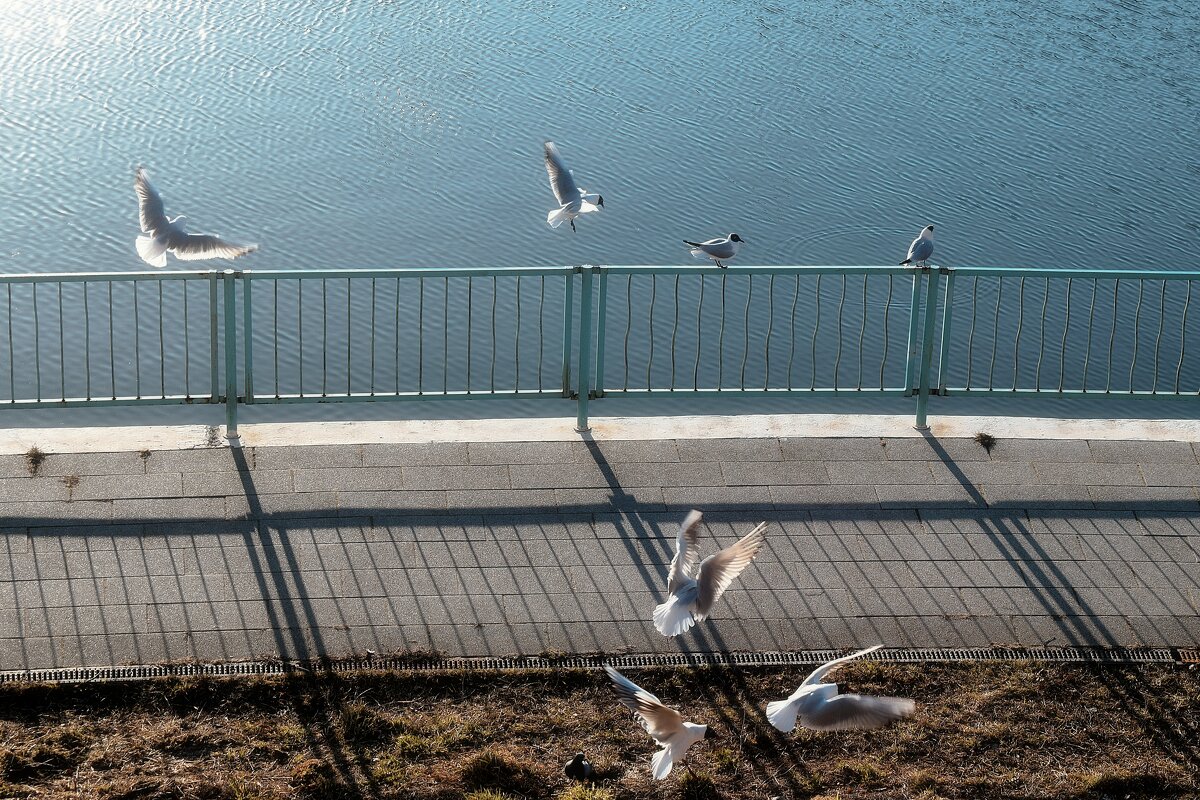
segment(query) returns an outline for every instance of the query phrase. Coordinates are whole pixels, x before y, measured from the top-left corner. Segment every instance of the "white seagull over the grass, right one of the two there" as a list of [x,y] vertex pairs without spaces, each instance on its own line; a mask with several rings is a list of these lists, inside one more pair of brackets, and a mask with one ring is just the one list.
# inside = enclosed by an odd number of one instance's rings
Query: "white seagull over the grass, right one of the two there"
[[802,726],[812,730],[865,730],[912,716],[917,704],[907,698],[839,694],[838,684],[821,682],[834,668],[875,652],[881,646],[876,644],[821,664],[786,700],[767,704],[767,720],[784,733],[790,733],[796,728],[797,717]]

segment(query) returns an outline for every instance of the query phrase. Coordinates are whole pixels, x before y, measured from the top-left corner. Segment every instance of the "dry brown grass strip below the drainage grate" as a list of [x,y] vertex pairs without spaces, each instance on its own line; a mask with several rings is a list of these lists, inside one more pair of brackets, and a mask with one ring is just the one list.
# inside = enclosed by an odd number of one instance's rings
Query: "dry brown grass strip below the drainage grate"
[[[842,688],[913,697],[913,720],[780,734],[762,706],[804,672],[632,672],[720,734],[662,782],[593,672],[2,686],[0,798],[1200,798],[1195,669],[862,662]],[[562,774],[577,750],[592,786]]]

